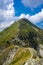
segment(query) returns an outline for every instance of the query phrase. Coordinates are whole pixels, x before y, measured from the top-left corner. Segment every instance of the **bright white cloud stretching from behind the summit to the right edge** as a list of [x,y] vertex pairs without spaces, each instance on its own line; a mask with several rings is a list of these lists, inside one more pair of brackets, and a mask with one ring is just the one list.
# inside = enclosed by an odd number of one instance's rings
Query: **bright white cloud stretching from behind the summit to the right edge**
[[41,12],[30,16],[29,14],[25,15],[25,14],[21,14],[19,19],[21,18],[27,18],[28,20],[30,20],[32,23],[37,23],[40,21],[43,21],[43,9],[41,10]]

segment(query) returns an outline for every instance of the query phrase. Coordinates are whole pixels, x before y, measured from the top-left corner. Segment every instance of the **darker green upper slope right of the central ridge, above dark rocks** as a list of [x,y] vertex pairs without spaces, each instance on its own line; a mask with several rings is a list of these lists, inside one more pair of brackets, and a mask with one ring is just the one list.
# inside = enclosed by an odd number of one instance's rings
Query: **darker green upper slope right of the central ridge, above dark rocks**
[[30,21],[26,19],[25,20],[21,19],[19,20],[19,22],[20,22],[20,26],[19,26],[20,35],[24,37],[24,36],[28,36],[27,34],[29,34],[29,32],[32,32],[33,35],[34,34],[37,35],[39,42],[43,44],[43,30],[41,30],[40,28],[38,28],[37,26],[35,26],[34,24],[32,24]]

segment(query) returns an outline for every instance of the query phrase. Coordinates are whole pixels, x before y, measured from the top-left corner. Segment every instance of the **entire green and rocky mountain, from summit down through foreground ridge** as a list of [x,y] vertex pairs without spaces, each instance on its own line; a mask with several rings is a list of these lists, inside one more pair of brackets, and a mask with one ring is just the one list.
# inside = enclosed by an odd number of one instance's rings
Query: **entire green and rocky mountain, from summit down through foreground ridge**
[[43,30],[20,19],[0,32],[0,65],[43,65],[42,45]]

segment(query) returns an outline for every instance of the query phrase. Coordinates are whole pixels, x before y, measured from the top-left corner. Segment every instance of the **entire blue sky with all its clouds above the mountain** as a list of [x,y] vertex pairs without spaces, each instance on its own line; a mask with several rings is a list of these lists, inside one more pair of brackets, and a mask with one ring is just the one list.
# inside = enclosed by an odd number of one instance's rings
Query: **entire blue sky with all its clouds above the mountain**
[[43,0],[0,0],[0,31],[21,18],[43,29]]

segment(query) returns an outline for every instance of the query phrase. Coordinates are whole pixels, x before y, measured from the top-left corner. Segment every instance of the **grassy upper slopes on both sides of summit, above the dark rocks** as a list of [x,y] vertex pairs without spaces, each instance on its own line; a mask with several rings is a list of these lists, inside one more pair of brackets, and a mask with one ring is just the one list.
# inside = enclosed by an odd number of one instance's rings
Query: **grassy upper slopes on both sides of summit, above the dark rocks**
[[[5,45],[6,42],[12,39],[13,37],[17,37],[18,33],[21,32],[21,34],[25,36],[30,31],[36,33],[40,38],[42,38],[43,32],[41,29],[39,29],[26,19],[20,19],[18,22],[15,22],[9,28],[0,32],[0,46]],[[41,43],[43,44],[42,41]]]

